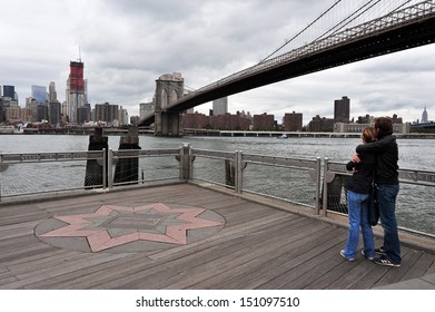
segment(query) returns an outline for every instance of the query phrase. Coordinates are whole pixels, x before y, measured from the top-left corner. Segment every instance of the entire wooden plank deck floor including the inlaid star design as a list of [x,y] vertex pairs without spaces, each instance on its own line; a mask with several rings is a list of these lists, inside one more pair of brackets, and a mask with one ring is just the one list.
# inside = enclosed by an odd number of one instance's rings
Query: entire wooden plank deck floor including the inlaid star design
[[435,289],[433,241],[401,233],[398,269],[350,263],[346,221],[257,199],[181,183],[0,203],[0,289]]

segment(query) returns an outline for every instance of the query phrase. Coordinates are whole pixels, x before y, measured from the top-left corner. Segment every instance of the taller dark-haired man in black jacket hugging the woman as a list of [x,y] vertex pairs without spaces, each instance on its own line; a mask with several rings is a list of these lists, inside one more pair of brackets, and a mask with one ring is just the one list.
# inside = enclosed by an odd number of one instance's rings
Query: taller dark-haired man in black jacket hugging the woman
[[[401,242],[397,233],[396,197],[398,184],[398,148],[393,136],[393,123],[389,118],[380,117],[375,120],[377,140],[359,145],[356,153],[376,155],[375,182],[378,187],[380,224],[384,227],[384,245],[375,250],[374,262],[387,266],[401,266]],[[356,162],[358,157],[354,156]]]

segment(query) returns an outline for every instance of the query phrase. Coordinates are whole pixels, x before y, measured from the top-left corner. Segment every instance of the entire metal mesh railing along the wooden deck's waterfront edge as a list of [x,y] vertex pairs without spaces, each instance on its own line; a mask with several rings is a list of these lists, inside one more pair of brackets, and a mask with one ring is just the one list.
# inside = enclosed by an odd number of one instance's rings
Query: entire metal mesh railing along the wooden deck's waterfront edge
[[[128,179],[117,181],[117,164],[122,159],[134,159],[137,172]],[[100,167],[102,181],[83,185],[88,162]],[[131,167],[128,170],[120,174],[130,175]],[[188,144],[164,149],[0,154],[0,205],[42,195],[194,183],[308,207],[315,215],[346,215],[346,181],[350,174],[345,164],[327,158],[322,162],[196,149]],[[399,179],[398,223],[406,231],[435,237],[435,172],[401,169]]]

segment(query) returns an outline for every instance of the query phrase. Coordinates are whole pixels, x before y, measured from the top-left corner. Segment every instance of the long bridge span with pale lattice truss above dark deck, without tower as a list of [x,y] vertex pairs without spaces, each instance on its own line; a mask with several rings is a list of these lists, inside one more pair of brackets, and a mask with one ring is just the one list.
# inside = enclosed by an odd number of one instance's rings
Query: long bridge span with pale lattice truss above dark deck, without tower
[[[435,3],[418,3],[258,64],[162,107],[180,113],[217,98],[435,41]],[[155,114],[139,120],[149,126]]]

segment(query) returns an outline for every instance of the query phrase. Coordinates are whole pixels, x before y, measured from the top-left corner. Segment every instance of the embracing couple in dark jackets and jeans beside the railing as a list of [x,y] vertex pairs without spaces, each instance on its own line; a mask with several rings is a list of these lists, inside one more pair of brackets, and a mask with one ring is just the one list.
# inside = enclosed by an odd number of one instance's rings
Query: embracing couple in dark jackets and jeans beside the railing
[[[347,182],[349,232],[340,254],[347,261],[355,260],[360,227],[364,242],[362,254],[376,264],[398,267],[402,262],[396,222],[398,148],[393,136],[393,123],[386,117],[377,118],[374,127],[366,127],[362,136],[363,144],[356,147],[356,154],[346,165],[354,174]],[[375,248],[368,221],[368,193],[373,179],[377,185],[376,199],[384,228],[384,244],[378,248]]]

